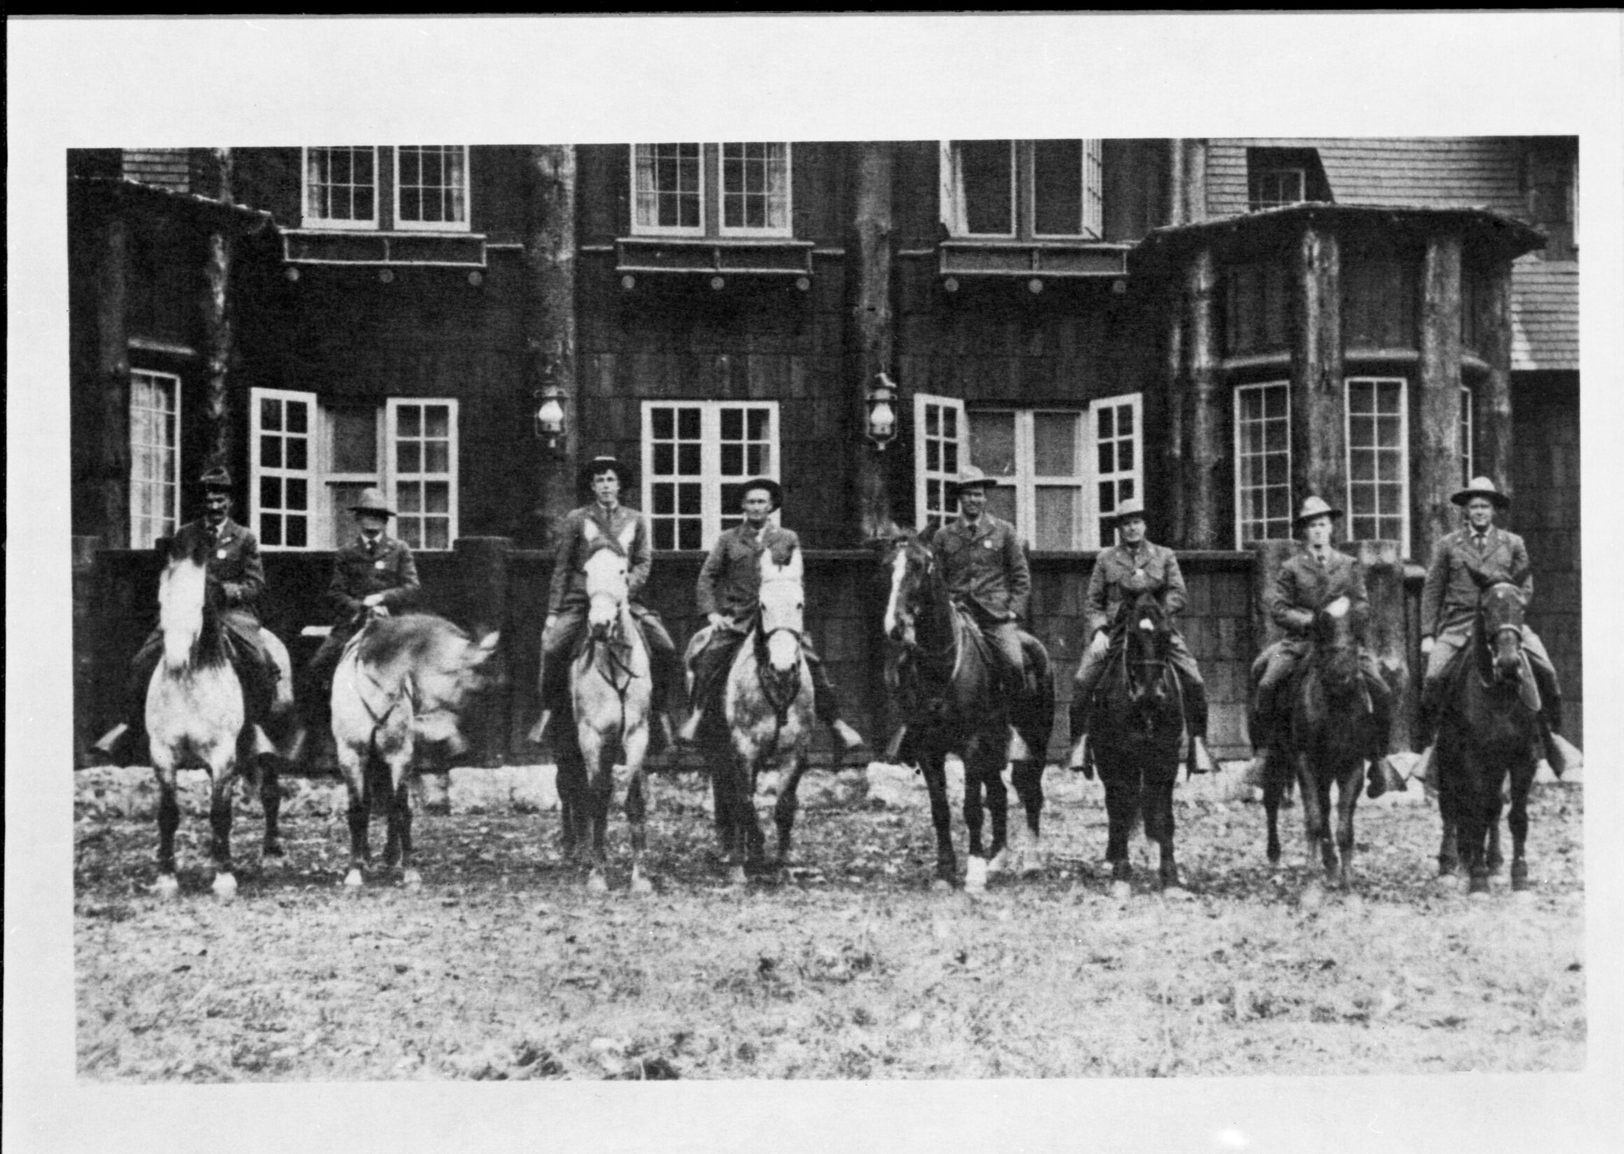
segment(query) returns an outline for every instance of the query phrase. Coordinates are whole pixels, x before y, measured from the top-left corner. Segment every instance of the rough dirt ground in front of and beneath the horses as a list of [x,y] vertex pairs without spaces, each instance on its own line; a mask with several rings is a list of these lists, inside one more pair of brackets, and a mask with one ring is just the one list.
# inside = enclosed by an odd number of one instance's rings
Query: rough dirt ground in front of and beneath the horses
[[[1533,889],[1436,875],[1437,810],[1369,807],[1354,886],[1263,859],[1255,803],[1179,803],[1187,896],[1111,896],[1098,787],[1046,813],[1049,868],[929,886],[919,807],[802,812],[788,876],[729,888],[705,784],[654,782],[653,898],[607,898],[555,813],[417,816],[421,889],[339,885],[341,816],[291,813],[235,902],[182,821],[182,894],[146,893],[148,820],[75,828],[78,1071],[93,1081],[1044,1078],[1574,1071],[1585,1061],[1583,794],[1531,807]],[[922,792],[922,789],[921,789]],[[963,823],[955,815],[963,852]],[[382,825],[374,826],[382,846]],[[1509,838],[1507,838],[1509,847]],[[1153,865],[1143,841],[1137,862]]]

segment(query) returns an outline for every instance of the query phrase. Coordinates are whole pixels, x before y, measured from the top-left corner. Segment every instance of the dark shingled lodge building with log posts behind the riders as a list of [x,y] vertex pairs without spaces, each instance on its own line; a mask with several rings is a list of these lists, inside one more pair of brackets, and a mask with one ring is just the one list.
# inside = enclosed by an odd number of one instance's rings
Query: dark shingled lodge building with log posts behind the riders
[[739,482],[784,484],[874,740],[877,534],[950,511],[966,459],[996,476],[1069,687],[1101,518],[1143,495],[1221,756],[1247,748],[1255,584],[1301,497],[1348,510],[1405,678],[1419,566],[1488,474],[1582,738],[1575,138],[88,149],[68,172],[81,742],[154,618],[149,547],[219,461],[296,661],[344,506],[383,487],[429,604],[503,628],[471,756],[521,758],[552,524],[598,453],[637,466],[679,643]]

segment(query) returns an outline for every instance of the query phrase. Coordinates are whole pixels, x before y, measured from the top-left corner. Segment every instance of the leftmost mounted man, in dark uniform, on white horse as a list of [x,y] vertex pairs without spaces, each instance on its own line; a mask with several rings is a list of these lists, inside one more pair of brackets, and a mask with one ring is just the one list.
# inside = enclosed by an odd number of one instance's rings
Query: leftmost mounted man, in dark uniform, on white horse
[[[206,471],[198,484],[203,487],[203,518],[175,531],[174,549],[185,552],[201,537],[208,550],[208,591],[219,609],[231,664],[242,685],[244,734],[255,740],[257,748],[274,748],[281,756],[297,760],[304,732],[292,709],[287,649],[260,625],[258,617],[258,601],[265,592],[260,540],[252,529],[231,519],[231,472],[224,466]],[[86,751],[86,761],[117,761],[132,735],[145,729],[146,690],[162,652],[162,630],[153,630],[130,661],[125,721]],[[274,747],[265,740],[266,730],[278,738]]]

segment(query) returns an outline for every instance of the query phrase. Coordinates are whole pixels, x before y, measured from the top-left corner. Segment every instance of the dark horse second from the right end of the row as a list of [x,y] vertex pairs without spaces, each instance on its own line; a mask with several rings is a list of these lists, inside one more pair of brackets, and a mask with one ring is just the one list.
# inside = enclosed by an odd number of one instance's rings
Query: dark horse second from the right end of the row
[[[1280,862],[1280,802],[1293,777],[1302,790],[1302,825],[1309,860],[1315,849],[1325,876],[1346,886],[1353,867],[1353,810],[1364,786],[1364,751],[1377,724],[1359,670],[1359,646],[1346,597],[1314,614],[1309,654],[1293,678],[1280,756],[1272,758],[1263,786],[1268,815],[1268,860]],[[1294,771],[1294,773],[1293,773]],[[1332,784],[1337,786],[1337,833],[1332,839]]]

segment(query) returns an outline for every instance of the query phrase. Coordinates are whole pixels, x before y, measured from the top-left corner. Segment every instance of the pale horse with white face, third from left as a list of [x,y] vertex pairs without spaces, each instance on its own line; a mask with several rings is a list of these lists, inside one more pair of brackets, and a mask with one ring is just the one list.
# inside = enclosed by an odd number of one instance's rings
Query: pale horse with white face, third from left
[[588,542],[596,545],[586,573],[586,635],[570,662],[570,706],[575,713],[575,745],[560,743],[559,800],[565,847],[585,849],[591,870],[586,888],[604,893],[607,854],[604,838],[609,810],[625,807],[632,829],[632,893],[646,894],[653,883],[643,873],[648,847],[645,823],[643,761],[648,756],[648,719],[653,703],[648,646],[632,617],[627,560],[637,526],[612,540],[586,521]]

